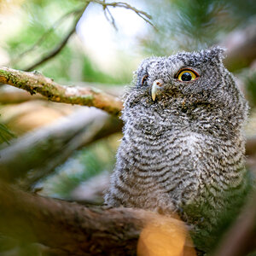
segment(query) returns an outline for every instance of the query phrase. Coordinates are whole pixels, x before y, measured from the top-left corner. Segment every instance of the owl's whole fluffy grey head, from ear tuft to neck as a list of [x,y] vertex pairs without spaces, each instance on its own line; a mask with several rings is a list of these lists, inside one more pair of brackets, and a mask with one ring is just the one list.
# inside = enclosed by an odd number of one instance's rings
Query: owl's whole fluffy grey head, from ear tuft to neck
[[222,122],[235,123],[238,118],[241,123],[246,119],[247,103],[223,59],[224,49],[215,47],[144,60],[125,95],[123,119],[150,119],[157,113],[154,117],[163,119],[215,115]]

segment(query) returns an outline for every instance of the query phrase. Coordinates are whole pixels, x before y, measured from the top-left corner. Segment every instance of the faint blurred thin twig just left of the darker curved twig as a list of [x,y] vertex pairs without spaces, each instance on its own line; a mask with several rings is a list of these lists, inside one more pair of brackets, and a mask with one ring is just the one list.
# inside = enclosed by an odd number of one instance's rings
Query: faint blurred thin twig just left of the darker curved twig
[[80,12],[82,12],[83,9],[75,9],[75,10],[68,12],[65,15],[62,15],[61,18],[56,20],[55,23],[52,26],[50,26],[46,32],[44,32],[44,34],[41,36],[41,38],[38,39],[38,41],[35,44],[33,44],[29,49],[26,49],[24,52],[22,52],[20,55],[18,55],[14,60],[11,60],[9,62],[9,66],[13,66],[17,61],[20,61],[20,58],[22,58],[24,55],[30,53],[33,49],[37,48],[40,44],[42,44],[44,42],[45,38],[48,37],[49,33],[53,32],[57,26],[60,26],[62,20],[66,19],[70,15],[79,14]]

